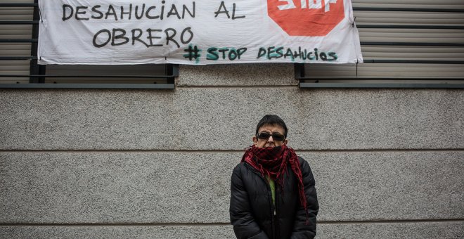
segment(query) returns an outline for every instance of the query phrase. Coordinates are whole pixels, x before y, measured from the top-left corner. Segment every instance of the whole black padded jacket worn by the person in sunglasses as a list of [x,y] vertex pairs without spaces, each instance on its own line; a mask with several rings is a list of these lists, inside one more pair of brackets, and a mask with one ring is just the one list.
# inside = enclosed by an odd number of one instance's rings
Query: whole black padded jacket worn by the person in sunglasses
[[284,175],[284,192],[276,185],[276,207],[266,179],[249,164],[233,169],[231,178],[231,224],[237,238],[296,239],[314,238],[318,201],[314,176],[308,162],[298,157],[307,199],[309,223],[299,203],[298,183],[290,164]]

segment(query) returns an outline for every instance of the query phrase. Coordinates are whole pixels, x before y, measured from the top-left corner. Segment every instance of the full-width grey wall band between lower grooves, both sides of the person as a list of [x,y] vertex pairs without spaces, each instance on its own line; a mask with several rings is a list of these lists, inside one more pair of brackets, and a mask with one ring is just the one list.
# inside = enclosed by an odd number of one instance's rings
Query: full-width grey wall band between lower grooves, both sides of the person
[[[0,153],[0,223],[227,223],[242,153]],[[301,153],[320,221],[464,218],[464,153]]]

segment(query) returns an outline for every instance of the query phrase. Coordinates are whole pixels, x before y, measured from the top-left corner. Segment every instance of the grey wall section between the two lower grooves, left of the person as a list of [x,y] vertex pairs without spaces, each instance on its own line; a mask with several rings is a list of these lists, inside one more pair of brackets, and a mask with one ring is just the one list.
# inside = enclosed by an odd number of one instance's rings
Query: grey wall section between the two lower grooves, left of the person
[[227,219],[230,155],[1,153],[0,164],[3,223]]

